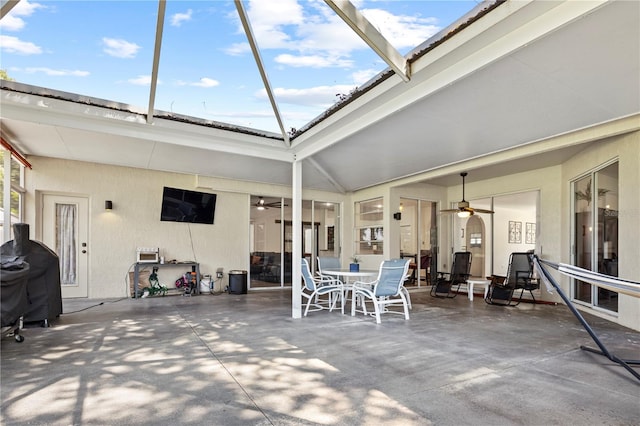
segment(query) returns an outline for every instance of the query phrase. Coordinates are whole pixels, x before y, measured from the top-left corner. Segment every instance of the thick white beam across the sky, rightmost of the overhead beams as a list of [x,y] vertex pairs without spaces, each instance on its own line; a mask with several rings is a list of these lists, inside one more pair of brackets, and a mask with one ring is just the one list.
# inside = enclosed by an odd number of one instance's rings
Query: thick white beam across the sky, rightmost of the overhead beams
[[325,0],[325,3],[384,60],[404,82],[411,79],[407,59],[361,14],[349,0]]

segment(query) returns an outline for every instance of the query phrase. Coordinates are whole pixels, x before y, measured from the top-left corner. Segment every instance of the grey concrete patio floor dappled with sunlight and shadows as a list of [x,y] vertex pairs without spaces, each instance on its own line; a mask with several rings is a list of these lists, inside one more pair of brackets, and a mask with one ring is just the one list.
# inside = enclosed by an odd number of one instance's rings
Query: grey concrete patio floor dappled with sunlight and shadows
[[[289,291],[65,300],[3,337],[2,425],[638,425],[640,381],[564,305],[413,291],[411,319],[312,312]],[[99,304],[102,303],[102,304]],[[97,306],[96,306],[97,305]],[[587,320],[614,354],[640,333]]]

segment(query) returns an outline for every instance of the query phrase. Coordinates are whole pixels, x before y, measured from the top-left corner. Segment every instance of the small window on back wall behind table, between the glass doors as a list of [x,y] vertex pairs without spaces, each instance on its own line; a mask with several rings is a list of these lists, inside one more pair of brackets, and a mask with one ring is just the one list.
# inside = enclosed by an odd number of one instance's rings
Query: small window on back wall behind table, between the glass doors
[[382,226],[382,198],[359,201],[355,204],[355,253],[382,254],[384,227]]

